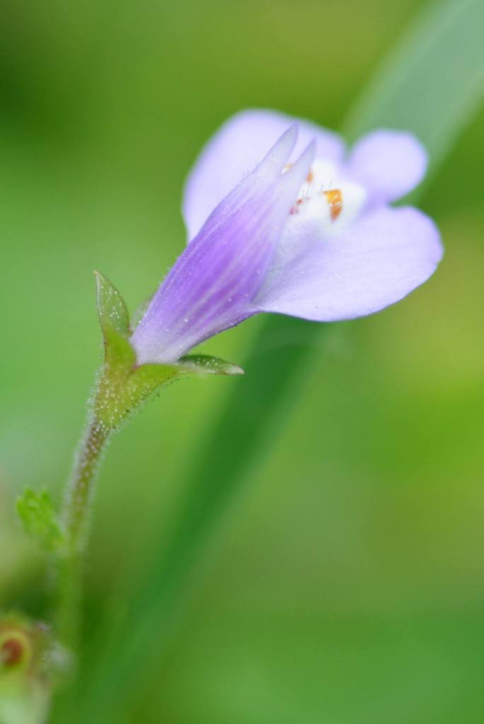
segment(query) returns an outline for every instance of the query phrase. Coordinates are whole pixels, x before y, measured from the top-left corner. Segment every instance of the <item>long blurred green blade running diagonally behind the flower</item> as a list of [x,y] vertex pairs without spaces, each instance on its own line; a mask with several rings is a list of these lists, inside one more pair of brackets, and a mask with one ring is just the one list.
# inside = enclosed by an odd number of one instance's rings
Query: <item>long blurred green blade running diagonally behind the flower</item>
[[[425,8],[383,61],[343,130],[351,138],[375,126],[411,130],[427,146],[435,174],[483,96],[483,25],[482,0],[450,0]],[[312,346],[320,352],[314,340],[327,329],[277,316],[264,323],[247,358],[248,375],[234,382],[212,438],[193,466],[188,499],[167,550],[154,551],[144,589],[97,641],[97,660],[85,667],[80,691],[62,702],[57,721],[119,721],[127,702],[143,695],[206,542],[259,455],[281,405],[287,411]],[[286,343],[301,336],[303,343]]]

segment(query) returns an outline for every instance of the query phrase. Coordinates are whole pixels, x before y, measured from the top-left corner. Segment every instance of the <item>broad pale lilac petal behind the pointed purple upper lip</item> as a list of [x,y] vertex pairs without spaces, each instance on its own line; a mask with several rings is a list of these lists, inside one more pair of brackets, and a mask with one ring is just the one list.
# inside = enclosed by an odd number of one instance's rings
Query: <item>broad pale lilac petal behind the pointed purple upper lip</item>
[[[230,118],[201,151],[185,184],[183,216],[191,240],[212,209],[244,174],[254,168],[280,135],[296,119],[275,111],[242,111]],[[317,142],[316,155],[341,161],[343,140],[309,121],[299,121],[299,138],[288,161],[297,158],[308,143]]]

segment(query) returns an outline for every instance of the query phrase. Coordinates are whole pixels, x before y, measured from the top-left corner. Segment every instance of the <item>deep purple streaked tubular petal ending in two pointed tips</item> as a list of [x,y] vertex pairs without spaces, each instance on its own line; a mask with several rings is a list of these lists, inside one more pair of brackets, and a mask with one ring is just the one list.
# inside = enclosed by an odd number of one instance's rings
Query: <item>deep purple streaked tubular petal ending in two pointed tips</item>
[[282,173],[296,139],[293,125],[185,248],[131,337],[138,363],[176,361],[256,313],[251,301],[314,159],[309,146]]

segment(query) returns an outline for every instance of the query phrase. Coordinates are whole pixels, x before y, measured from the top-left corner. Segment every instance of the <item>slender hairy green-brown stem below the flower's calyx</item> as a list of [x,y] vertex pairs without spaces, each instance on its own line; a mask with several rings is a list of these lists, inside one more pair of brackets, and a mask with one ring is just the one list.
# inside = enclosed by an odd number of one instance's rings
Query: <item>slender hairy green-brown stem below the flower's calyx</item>
[[88,544],[91,508],[102,453],[110,430],[93,418],[80,442],[67,482],[62,521],[66,534],[59,557],[57,636],[72,652],[78,648],[83,558]]

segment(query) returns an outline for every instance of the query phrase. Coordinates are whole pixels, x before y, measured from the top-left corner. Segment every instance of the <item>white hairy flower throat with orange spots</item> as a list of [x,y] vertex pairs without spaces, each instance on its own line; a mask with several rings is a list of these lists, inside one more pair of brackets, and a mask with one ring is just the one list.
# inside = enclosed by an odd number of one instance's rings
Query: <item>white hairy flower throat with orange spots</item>
[[[290,168],[288,164],[283,172]],[[301,221],[317,220],[322,232],[335,235],[353,221],[365,200],[362,186],[342,179],[329,161],[316,160],[299,190],[291,216]]]

